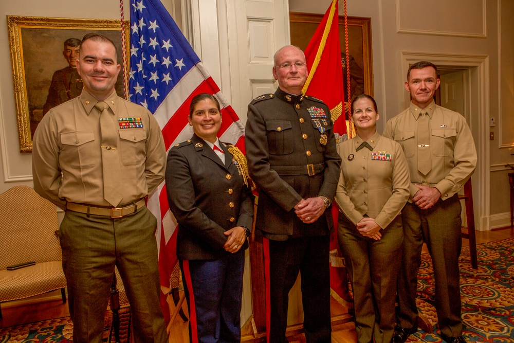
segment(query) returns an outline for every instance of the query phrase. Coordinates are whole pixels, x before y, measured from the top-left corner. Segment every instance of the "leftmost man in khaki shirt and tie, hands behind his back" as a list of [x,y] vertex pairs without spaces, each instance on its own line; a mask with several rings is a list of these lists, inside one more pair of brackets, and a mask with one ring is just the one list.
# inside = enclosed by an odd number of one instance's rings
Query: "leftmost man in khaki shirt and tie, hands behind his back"
[[59,229],[74,342],[101,342],[118,267],[136,342],[168,341],[159,305],[154,237],[145,197],[164,179],[166,151],[152,114],[116,95],[114,43],[80,44],[81,95],[51,109],[34,134],[34,189],[65,209]]

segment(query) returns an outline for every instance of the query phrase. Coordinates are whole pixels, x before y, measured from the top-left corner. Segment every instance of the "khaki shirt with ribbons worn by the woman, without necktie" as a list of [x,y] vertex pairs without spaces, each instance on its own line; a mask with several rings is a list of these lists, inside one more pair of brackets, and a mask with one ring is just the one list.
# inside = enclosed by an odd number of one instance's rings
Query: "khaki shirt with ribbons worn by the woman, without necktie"
[[344,215],[357,224],[364,215],[386,228],[409,198],[409,168],[400,145],[378,132],[368,139],[373,151],[355,138],[339,144],[341,174],[335,201]]

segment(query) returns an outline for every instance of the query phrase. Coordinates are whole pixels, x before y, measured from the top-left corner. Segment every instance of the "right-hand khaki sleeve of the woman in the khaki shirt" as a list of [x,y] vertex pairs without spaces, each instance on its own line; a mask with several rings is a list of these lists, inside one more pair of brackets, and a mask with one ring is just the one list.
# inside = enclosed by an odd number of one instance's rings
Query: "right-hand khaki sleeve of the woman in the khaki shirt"
[[394,158],[393,161],[393,180],[391,197],[382,207],[382,210],[375,218],[375,223],[380,225],[381,228],[386,228],[394,218],[400,213],[401,209],[409,200],[409,187],[411,184],[411,178],[409,175],[409,167],[405,154],[401,146],[394,142]]

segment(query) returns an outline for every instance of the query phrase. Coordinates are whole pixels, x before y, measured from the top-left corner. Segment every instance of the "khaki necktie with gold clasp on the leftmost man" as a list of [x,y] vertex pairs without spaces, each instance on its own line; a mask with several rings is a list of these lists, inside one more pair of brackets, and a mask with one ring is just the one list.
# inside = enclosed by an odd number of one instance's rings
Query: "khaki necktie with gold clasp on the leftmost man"
[[118,156],[118,130],[116,130],[109,105],[103,101],[96,103],[100,111],[100,130],[102,131],[102,170],[103,170],[103,197],[114,207],[118,206],[123,198],[120,190],[121,182],[120,159]]

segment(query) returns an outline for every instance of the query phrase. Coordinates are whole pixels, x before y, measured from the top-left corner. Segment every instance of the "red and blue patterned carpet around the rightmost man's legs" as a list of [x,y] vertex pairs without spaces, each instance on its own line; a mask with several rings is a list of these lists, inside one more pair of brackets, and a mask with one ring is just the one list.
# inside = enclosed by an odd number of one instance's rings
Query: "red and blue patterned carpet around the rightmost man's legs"
[[[467,245],[460,258],[464,338],[470,342],[514,342],[514,239],[478,244],[476,248],[478,269],[471,268]],[[442,341],[434,291],[432,260],[424,254],[418,274],[417,306],[433,324],[434,333],[418,330],[416,338],[408,342]]]

